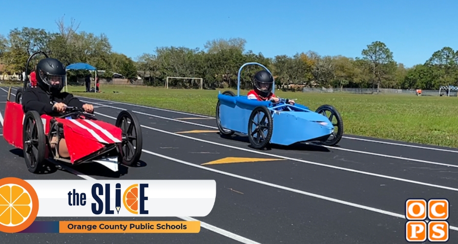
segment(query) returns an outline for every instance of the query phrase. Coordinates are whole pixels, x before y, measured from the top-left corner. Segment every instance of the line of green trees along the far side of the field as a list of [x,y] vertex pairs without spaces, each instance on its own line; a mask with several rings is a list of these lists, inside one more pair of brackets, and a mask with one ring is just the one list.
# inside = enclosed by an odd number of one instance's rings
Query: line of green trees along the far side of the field
[[[203,79],[206,89],[236,87],[238,70],[246,62],[268,67],[280,87],[438,89],[442,85],[458,85],[458,50],[447,46],[434,52],[424,63],[409,68],[396,62],[393,52],[381,41],[368,44],[361,56],[355,58],[322,56],[313,51],[267,58],[262,53],[245,50],[247,41],[244,39],[215,39],[207,41],[203,50],[183,46],[157,47],[154,53],[144,53],[134,61],[114,52],[104,34],[77,32],[79,25],[74,20],[68,26],[63,19],[56,23],[57,32],[23,27],[7,35],[0,34],[0,63],[4,64],[4,71],[21,73],[27,58],[41,50],[64,65],[86,62],[98,70],[105,70],[102,78],[111,78],[113,73],[130,80],[139,76],[145,84],[154,86],[164,86],[167,77],[195,77]],[[251,86],[250,77],[259,69],[258,66],[244,68],[242,88]],[[69,81],[72,81],[84,71],[69,73]],[[185,80],[173,82],[169,87],[199,85]]]

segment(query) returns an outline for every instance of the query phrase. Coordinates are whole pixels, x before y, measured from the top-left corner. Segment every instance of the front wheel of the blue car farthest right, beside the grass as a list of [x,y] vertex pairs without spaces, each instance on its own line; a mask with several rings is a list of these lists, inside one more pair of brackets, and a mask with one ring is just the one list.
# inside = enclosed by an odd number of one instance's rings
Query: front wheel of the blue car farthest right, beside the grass
[[327,104],[321,105],[318,109],[316,109],[315,112],[326,116],[334,126],[333,134],[331,134],[326,141],[322,141],[321,143],[327,146],[336,145],[338,142],[340,142],[340,139],[342,139],[343,136],[344,126],[342,116],[340,116],[340,113],[335,107]]

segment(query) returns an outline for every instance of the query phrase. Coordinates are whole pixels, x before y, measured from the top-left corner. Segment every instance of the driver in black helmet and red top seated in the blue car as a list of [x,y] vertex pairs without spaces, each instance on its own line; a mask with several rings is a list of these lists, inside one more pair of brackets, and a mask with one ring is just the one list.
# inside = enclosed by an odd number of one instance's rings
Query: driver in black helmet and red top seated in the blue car
[[[280,99],[272,93],[272,88],[272,75],[266,70],[261,70],[253,76],[253,90],[248,92],[247,98],[257,101],[280,101]],[[290,100],[289,103],[294,104],[294,101]]]

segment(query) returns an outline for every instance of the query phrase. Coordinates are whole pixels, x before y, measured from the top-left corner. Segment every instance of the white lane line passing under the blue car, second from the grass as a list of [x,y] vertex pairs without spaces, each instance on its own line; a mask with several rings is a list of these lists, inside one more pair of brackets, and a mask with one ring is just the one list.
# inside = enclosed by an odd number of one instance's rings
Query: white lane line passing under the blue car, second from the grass
[[[119,110],[126,110],[124,108],[110,106],[110,105],[106,105],[106,104],[99,104],[99,103],[94,103],[94,104],[104,105],[105,107],[110,107],[110,108],[119,109]],[[211,129],[218,129],[218,127],[210,126],[210,125],[206,125],[206,124],[200,124],[200,123],[194,123],[194,122],[188,122],[188,121],[181,121],[181,120],[162,117],[162,116],[158,116],[158,115],[152,115],[152,114],[147,114],[147,113],[143,113],[143,112],[138,112],[138,111],[135,111],[135,110],[132,110],[132,112],[137,113],[137,114],[150,116],[150,117],[159,118],[159,119],[169,120],[169,121],[187,123],[187,124],[197,125],[197,126],[201,126],[201,127],[207,127],[207,128],[211,128]],[[457,167],[458,168],[458,165],[456,165],[456,164],[438,163],[438,162],[433,162],[433,161],[426,161],[426,160],[419,160],[419,159],[412,159],[412,158],[404,158],[404,157],[398,157],[398,156],[392,156],[392,155],[386,155],[386,154],[379,154],[379,153],[373,153],[373,152],[346,149],[346,148],[341,148],[341,147],[324,146],[324,145],[318,145],[318,144],[314,144],[314,145],[323,146],[323,147],[336,149],[336,150],[343,150],[343,151],[349,151],[349,152],[354,152],[354,153],[362,153],[362,154],[368,154],[368,155],[373,155],[373,156],[385,157],[385,158],[400,159],[400,160],[406,160],[406,161],[414,161],[414,162],[418,162],[418,163],[429,163],[429,164],[436,164],[436,165],[441,165],[441,166],[446,166],[446,167]]]

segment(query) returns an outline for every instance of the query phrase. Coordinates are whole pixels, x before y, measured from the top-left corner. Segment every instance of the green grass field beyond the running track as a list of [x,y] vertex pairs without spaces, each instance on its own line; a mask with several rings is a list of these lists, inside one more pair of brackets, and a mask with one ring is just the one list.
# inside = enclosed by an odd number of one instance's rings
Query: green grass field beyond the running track
[[[82,86],[68,89],[69,92],[79,96],[209,116],[215,115],[218,95],[218,90],[182,90],[145,86],[101,85],[103,93],[83,93],[83,90]],[[234,92],[237,93],[236,90]],[[241,91],[241,93],[246,95],[248,91]],[[322,104],[335,106],[343,117],[345,134],[458,147],[457,97],[281,91],[275,94],[282,98],[297,99],[296,102],[309,106],[312,110]]]

